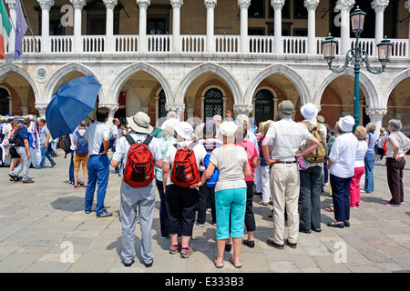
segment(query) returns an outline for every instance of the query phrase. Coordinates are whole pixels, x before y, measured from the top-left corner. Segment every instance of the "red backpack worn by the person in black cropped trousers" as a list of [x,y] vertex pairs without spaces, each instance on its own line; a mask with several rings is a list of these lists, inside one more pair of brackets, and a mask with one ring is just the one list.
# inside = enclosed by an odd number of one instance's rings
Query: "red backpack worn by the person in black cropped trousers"
[[200,171],[197,166],[197,159],[193,147],[197,143],[191,143],[190,146],[174,145],[177,153],[174,158],[170,180],[177,186],[189,188],[193,184],[200,182]]

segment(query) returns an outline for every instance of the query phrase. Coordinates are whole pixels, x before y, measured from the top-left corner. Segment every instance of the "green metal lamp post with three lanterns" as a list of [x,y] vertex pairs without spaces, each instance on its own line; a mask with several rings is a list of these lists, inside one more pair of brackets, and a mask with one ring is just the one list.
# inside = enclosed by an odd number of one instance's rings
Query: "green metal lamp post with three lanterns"
[[393,43],[391,43],[386,37],[377,46],[379,61],[382,63],[382,67],[372,68],[369,64],[369,57],[365,50],[360,47],[359,40],[360,34],[364,27],[365,13],[357,6],[354,12],[350,15],[352,21],[352,31],[356,37],[354,48],[347,51],[344,65],[333,67],[332,61],[336,55],[338,42],[329,34],[323,42],[323,56],[329,65],[329,68],[334,73],[342,73],[349,65],[354,66],[354,129],[359,125],[359,75],[360,67],[362,64],[366,65],[367,71],[374,75],[378,75],[384,72],[385,65],[390,61],[392,55]]

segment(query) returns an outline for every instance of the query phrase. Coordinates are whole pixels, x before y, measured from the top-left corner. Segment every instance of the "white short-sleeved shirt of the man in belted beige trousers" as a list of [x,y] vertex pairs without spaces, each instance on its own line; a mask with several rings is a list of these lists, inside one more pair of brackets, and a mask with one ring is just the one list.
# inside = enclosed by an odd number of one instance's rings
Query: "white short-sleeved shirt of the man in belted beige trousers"
[[313,138],[306,125],[295,123],[291,118],[282,118],[272,123],[266,136],[272,138],[272,159],[294,161],[303,140]]

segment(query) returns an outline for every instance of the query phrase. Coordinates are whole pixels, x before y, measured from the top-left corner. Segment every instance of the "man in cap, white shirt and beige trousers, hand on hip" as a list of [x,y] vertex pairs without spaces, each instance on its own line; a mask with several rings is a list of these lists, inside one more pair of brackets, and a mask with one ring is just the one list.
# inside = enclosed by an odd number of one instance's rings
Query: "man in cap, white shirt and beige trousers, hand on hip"
[[[271,166],[271,187],[273,199],[273,239],[268,246],[283,249],[284,211],[288,215],[289,236],[286,243],[295,248],[299,233],[298,199],[300,191],[299,168],[295,156],[305,156],[319,146],[319,141],[309,133],[305,125],[292,120],[294,105],[285,100],[279,105],[282,119],[274,122],[262,142],[266,164]],[[272,157],[268,144],[273,139]],[[309,141],[302,152],[299,146],[303,140]]]

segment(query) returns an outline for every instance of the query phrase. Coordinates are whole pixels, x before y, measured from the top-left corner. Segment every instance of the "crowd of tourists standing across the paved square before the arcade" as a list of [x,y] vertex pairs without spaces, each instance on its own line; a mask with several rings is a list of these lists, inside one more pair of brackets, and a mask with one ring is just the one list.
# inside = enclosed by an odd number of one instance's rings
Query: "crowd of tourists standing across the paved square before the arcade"
[[[256,192],[261,193],[259,203],[272,205],[273,236],[266,244],[277,249],[283,249],[284,245],[296,248],[300,232],[322,231],[320,197],[328,176],[334,221],[327,226],[350,226],[350,209],[361,207],[362,192],[374,191],[373,166],[380,156],[386,156],[392,194],[385,205],[404,203],[402,177],[410,139],[400,132],[399,120],[390,120],[388,135],[382,133],[375,140],[375,126],[359,125],[354,131],[355,121],[350,115],[341,117],[334,127],[336,132],[331,134],[313,104],[302,106],[304,120],[300,123],[293,121],[295,109],[291,101],[283,101],[278,108],[276,121],[261,122],[258,127],[251,125],[247,115],[235,119],[227,116],[225,120],[215,115],[204,124],[191,125],[179,121],[170,112],[168,120],[154,131],[149,115],[138,112],[127,118],[127,129],[119,128],[118,119],[109,128],[106,107],[97,108],[95,123],[78,125],[70,135],[70,179],[72,176],[73,186],[80,186],[78,172],[82,165],[85,212],[91,212],[97,188],[97,217],[112,216],[104,203],[109,166],[122,177],[120,220],[124,266],[134,263],[137,221],[143,264],[147,267],[153,264],[151,229],[156,189],[160,199],[160,236],[170,238],[172,255],[187,258],[193,254],[190,247],[193,227],[204,226],[210,208],[210,223],[216,225],[218,247],[213,263],[218,268],[223,267],[224,253],[232,248],[231,264],[240,268],[242,244],[255,246],[257,226],[252,209],[255,185]],[[31,181],[26,166],[30,151],[25,127],[29,124],[25,120],[23,125],[15,125],[21,136],[15,149],[23,161],[10,172],[12,180],[24,169],[23,182]],[[44,119],[40,120],[40,126],[46,127]],[[49,136],[45,136],[47,143]],[[109,160],[111,147],[113,156]],[[51,166],[56,165],[50,162]],[[363,175],[365,186],[361,189]],[[286,238],[285,219],[289,230]],[[243,239],[245,228],[247,239]]]

